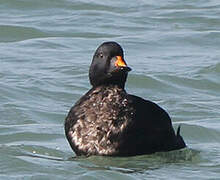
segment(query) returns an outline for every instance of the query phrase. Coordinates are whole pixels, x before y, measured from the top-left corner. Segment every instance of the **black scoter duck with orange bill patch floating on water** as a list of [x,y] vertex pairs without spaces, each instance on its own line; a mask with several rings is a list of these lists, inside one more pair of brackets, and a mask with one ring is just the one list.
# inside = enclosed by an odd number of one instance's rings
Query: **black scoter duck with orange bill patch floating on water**
[[92,88],[69,111],[65,133],[76,155],[134,156],[186,147],[167,112],[124,89],[121,46],[104,42],[89,69]]

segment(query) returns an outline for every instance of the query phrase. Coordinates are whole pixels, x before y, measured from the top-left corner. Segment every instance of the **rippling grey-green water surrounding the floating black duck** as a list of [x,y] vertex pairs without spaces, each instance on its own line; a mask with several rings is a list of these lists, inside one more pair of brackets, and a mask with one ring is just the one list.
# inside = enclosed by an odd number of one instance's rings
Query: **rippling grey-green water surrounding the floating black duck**
[[[1,0],[0,179],[219,179],[220,2]],[[70,107],[103,41],[119,42],[126,89],[166,109],[188,148],[75,157]]]

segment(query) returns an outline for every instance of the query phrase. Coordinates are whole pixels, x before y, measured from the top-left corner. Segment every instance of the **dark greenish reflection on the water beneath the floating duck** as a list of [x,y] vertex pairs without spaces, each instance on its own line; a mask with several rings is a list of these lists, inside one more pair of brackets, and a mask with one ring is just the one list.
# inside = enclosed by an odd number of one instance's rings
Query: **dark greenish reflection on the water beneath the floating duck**
[[185,148],[132,157],[80,156],[69,160],[80,162],[80,166],[88,170],[113,170],[127,174],[146,173],[146,170],[159,169],[168,163],[197,163],[201,161],[201,157],[199,151]]

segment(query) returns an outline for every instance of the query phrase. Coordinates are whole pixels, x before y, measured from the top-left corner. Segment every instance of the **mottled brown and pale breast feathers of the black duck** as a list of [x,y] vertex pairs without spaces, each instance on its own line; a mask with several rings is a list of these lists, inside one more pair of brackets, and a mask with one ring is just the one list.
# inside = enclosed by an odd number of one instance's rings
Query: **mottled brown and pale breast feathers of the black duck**
[[97,87],[85,96],[73,110],[77,117],[69,132],[73,143],[87,154],[117,153],[134,115],[126,91],[117,86]]

